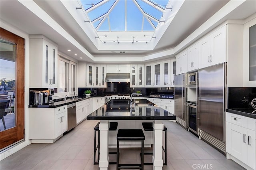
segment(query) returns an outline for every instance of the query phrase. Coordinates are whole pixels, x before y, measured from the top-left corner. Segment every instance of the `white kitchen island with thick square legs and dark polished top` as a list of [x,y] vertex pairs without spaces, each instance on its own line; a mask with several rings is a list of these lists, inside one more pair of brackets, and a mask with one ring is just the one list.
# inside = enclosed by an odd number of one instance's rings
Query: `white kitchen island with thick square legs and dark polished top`
[[[163,120],[176,120],[168,111],[142,100],[130,109],[128,100],[111,100],[87,116],[87,120],[100,120],[100,170],[107,170],[109,164],[108,147],[116,145],[116,133],[108,131],[109,122],[117,121],[119,128],[142,128],[142,122],[153,122],[154,132],[144,132],[145,147],[154,144],[152,162],[154,170],[162,170],[162,130]],[[136,102],[134,102],[136,103]],[[143,128],[142,128],[143,129]],[[107,142],[106,142],[107,141]],[[120,147],[138,147],[136,143],[123,143]]]

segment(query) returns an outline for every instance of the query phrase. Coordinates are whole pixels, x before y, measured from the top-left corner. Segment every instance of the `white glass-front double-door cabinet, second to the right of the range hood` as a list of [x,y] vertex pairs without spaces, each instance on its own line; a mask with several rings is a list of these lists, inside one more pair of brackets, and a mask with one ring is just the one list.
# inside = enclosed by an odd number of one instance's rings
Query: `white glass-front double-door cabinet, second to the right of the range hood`
[[162,62],[145,65],[145,87],[161,87]]

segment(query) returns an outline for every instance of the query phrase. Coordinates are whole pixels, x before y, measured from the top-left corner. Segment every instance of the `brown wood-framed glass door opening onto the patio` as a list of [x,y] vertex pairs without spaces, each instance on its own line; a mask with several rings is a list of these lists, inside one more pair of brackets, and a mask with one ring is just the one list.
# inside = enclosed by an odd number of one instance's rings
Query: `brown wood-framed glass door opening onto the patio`
[[24,39],[0,28],[0,150],[24,139]]

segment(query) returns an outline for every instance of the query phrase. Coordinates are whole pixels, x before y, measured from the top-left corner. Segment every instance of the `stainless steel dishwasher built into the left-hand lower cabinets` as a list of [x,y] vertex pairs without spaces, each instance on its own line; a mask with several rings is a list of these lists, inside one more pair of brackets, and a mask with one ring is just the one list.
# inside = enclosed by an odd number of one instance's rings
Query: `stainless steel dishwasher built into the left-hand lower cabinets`
[[76,103],[69,104],[67,109],[67,131],[69,131],[76,127]]

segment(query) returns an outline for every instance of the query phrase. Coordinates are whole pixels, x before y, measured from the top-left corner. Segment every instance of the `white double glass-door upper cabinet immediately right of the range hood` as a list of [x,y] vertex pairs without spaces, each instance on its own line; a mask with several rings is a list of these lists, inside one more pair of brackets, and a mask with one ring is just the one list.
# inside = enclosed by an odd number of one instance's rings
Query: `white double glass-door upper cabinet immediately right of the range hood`
[[130,87],[144,87],[144,65],[131,65]]

